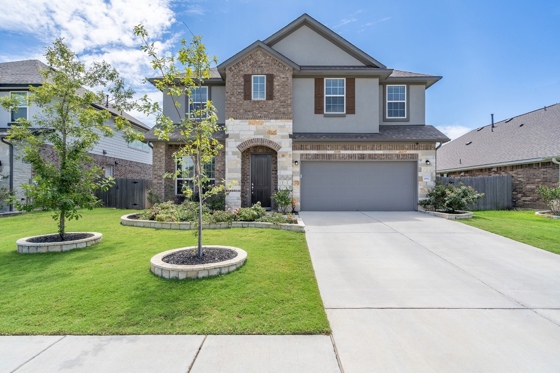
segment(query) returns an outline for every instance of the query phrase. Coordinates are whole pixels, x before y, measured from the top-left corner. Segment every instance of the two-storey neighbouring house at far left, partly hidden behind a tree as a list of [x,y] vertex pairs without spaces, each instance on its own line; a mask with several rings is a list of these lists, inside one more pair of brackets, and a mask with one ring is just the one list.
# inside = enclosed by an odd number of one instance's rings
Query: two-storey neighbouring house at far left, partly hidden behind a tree
[[[40,86],[43,76],[41,69],[49,67],[39,60],[25,60],[17,62],[0,63],[0,96],[29,94],[29,86]],[[146,133],[150,128],[141,121],[125,112],[118,112],[114,108],[100,104],[92,106],[109,110],[116,117],[123,115],[132,128]],[[17,112],[8,112],[0,107],[0,174],[8,175],[4,183],[10,183],[21,196],[21,184],[29,183],[32,178],[31,165],[23,162],[17,147],[12,147],[6,139],[7,131],[18,117],[32,118],[38,112],[36,107],[22,106]],[[114,124],[114,119],[110,120]],[[41,155],[45,159],[53,160],[54,152],[51,145],[43,145]],[[141,141],[127,143],[120,133],[115,133],[112,138],[101,138],[90,156],[96,166],[105,169],[106,176],[115,178],[151,178],[152,177],[152,150]]]

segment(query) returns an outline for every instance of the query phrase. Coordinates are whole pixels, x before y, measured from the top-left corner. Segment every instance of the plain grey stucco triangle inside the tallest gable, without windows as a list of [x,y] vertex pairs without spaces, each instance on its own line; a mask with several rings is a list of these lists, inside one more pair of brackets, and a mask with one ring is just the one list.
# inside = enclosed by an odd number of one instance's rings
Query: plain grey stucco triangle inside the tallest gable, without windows
[[272,49],[303,66],[364,66],[359,60],[307,26],[293,31],[292,34],[272,45]]

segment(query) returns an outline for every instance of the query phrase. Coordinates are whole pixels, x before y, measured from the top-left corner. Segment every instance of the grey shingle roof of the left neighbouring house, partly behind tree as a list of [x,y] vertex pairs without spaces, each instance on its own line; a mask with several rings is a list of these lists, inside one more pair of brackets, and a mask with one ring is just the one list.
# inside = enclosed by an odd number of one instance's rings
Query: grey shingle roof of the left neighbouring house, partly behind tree
[[[43,84],[43,75],[39,70],[52,69],[49,65],[45,65],[39,60],[24,60],[15,62],[0,63],[0,87],[21,87],[22,89],[29,86],[40,86]],[[112,115],[122,115],[131,124],[137,126],[138,129],[147,131],[149,126],[142,123],[132,115],[124,111],[116,110],[114,107],[106,107],[104,104],[92,103],[91,106],[100,110],[107,110]]]

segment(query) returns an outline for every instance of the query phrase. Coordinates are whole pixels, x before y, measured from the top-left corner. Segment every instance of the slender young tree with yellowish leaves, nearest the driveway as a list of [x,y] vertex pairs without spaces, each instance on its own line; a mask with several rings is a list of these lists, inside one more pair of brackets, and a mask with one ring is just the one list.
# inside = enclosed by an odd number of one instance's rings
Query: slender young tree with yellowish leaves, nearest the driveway
[[[218,116],[211,101],[202,102],[202,86],[210,76],[210,63],[217,63],[216,56],[206,54],[206,46],[202,44],[202,37],[194,36],[188,43],[185,39],[181,41],[181,48],[177,55],[161,56],[154,44],[146,40],[148,32],[144,26],[134,27],[134,34],[143,40],[141,47],[151,58],[152,67],[161,77],[153,79],[156,88],[170,95],[174,102],[174,110],[179,117],[179,123],[174,124],[171,118],[164,114],[162,107],[157,102],[152,102],[147,96],[141,101],[144,113],[152,114],[156,119],[155,134],[161,140],[169,140],[170,134],[179,136],[181,148],[174,153],[175,162],[183,163],[183,157],[190,157],[194,165],[192,181],[194,188],[198,191],[198,256],[202,257],[202,206],[203,200],[211,195],[225,190],[222,184],[219,187],[209,188],[209,178],[206,175],[204,165],[211,162],[212,157],[218,154],[223,145],[212,135],[220,130],[217,124]],[[179,68],[180,63],[184,68]],[[146,79],[147,80],[147,79]],[[189,98],[189,108],[183,108],[179,97]],[[197,100],[193,100],[193,96]],[[194,103],[199,102],[199,103]],[[202,103],[200,103],[202,102]],[[174,174],[166,174],[166,177],[177,178],[182,172],[182,167]],[[183,175],[184,178],[191,175]],[[206,189],[206,190],[205,190]],[[193,190],[189,186],[183,186],[182,191],[190,197]]]

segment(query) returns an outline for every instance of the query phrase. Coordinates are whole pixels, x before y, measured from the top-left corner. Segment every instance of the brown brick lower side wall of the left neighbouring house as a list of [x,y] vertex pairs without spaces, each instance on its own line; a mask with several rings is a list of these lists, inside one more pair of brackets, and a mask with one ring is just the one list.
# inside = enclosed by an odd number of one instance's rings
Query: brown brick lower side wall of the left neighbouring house
[[[44,160],[48,160],[54,164],[58,164],[58,157],[52,145],[41,145],[39,154]],[[114,178],[131,178],[131,179],[150,179],[152,178],[152,165],[148,163],[134,162],[133,160],[107,157],[106,155],[91,154],[88,155],[93,159],[92,166],[105,167],[106,164],[113,166]],[[118,164],[115,164],[117,162]]]

